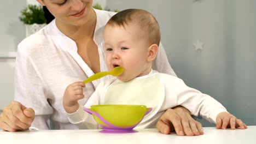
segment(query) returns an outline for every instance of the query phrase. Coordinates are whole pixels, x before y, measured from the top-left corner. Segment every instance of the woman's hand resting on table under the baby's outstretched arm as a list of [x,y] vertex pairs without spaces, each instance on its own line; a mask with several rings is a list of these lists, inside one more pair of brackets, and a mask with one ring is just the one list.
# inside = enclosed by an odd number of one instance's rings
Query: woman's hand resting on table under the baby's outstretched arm
[[156,128],[162,134],[170,134],[171,131],[176,131],[176,134],[180,136],[203,134],[202,124],[195,121],[195,119],[191,117],[190,112],[182,106],[168,109],[164,115],[160,117]]

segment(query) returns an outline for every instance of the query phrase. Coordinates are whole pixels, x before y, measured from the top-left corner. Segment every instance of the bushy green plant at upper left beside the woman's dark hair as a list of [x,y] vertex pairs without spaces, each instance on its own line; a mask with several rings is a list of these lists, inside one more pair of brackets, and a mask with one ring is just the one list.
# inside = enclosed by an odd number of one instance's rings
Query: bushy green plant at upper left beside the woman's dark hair
[[46,23],[43,7],[36,4],[29,4],[25,9],[21,10],[21,16],[19,17],[19,19],[25,25],[32,25],[33,23]]

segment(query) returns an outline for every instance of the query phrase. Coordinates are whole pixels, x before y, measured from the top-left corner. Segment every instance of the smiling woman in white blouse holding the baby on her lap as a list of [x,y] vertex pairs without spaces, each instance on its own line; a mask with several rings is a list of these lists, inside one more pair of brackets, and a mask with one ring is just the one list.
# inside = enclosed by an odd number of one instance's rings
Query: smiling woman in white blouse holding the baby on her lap
[[[77,129],[68,122],[62,96],[69,83],[107,71],[103,28],[115,13],[92,9],[92,0],[37,0],[55,17],[46,27],[21,41],[15,70],[15,100],[4,107],[0,128],[7,131],[38,129]],[[160,45],[153,69],[175,75]],[[109,76],[86,84],[84,105],[98,83]],[[19,102],[18,102],[19,101]],[[33,107],[27,108],[27,107]],[[36,116],[35,116],[36,113]],[[32,123],[33,122],[33,123]],[[183,107],[167,110],[157,128],[168,134],[202,134]]]

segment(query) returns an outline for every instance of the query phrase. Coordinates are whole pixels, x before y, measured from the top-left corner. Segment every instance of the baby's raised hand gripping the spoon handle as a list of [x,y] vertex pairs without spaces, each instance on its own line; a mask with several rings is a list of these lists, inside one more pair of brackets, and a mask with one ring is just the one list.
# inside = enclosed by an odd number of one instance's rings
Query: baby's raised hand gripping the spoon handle
[[84,98],[83,87],[85,87],[83,82],[74,82],[66,88],[63,96],[63,107],[67,113],[74,113],[78,110],[77,101]]

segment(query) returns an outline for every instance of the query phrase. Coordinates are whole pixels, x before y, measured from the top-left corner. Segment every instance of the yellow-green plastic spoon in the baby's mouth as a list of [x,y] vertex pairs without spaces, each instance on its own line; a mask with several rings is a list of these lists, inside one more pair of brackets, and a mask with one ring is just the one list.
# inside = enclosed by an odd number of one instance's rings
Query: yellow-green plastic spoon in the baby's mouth
[[106,75],[119,76],[123,73],[123,71],[124,71],[124,68],[120,67],[120,66],[115,67],[110,71],[101,71],[99,73],[96,73],[96,74],[88,77],[88,79],[84,80],[84,83],[88,83],[88,82],[100,79],[101,77],[106,76]]

